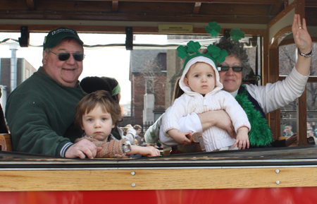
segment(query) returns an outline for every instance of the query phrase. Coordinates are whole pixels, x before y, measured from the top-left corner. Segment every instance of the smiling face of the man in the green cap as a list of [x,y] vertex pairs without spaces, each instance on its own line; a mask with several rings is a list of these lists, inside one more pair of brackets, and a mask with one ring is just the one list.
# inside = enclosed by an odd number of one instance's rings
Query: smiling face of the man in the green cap
[[73,55],[66,61],[60,61],[56,54],[62,52],[79,52],[82,53],[82,46],[74,40],[62,40],[51,49],[49,54],[43,52],[43,68],[51,78],[58,81],[62,85],[75,87],[77,80],[82,73],[82,61],[75,61]]

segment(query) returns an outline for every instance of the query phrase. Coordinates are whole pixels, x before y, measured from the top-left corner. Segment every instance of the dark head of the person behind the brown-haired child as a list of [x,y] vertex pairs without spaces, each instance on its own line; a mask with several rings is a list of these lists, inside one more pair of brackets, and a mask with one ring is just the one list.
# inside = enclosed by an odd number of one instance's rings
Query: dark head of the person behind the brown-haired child
[[[82,87],[82,90],[84,90],[87,93],[92,93],[97,90],[106,90],[107,92],[112,94],[113,88],[116,88],[118,85],[118,81],[116,78],[109,78],[106,76],[103,77],[97,77],[97,76],[91,76],[91,77],[85,77],[80,81],[80,86]],[[119,103],[118,94],[111,96],[113,100]]]

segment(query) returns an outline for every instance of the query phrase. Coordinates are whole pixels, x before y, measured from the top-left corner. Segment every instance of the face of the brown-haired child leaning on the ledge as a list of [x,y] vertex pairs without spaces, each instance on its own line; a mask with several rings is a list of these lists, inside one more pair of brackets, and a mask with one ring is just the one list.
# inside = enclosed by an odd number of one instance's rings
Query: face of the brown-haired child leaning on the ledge
[[99,141],[106,140],[114,126],[111,114],[104,112],[100,105],[82,116],[82,130],[85,131],[87,136],[92,136],[92,138]]

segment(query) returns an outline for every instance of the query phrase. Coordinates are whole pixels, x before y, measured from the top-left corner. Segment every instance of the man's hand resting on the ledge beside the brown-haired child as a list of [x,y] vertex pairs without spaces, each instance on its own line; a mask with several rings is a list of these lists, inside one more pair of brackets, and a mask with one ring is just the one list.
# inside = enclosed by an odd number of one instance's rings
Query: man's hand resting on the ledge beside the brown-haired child
[[85,159],[86,155],[89,159],[94,159],[96,157],[97,152],[99,152],[102,148],[97,148],[94,143],[88,140],[80,140],[78,143],[75,143],[68,148],[65,152],[65,157],[67,158],[76,158],[80,157],[80,159]]

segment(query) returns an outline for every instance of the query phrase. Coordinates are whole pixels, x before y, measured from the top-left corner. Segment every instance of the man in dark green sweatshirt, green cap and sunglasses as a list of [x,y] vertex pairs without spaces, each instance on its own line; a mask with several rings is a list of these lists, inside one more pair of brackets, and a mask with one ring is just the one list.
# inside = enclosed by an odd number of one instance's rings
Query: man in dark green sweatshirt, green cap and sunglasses
[[[43,66],[8,97],[6,119],[13,151],[68,158],[97,155],[73,124],[75,106],[85,92],[78,78],[84,59],[83,42],[70,28],[51,30],[43,43]],[[100,148],[99,148],[100,149]]]

